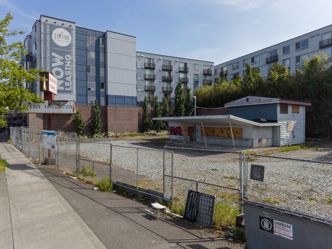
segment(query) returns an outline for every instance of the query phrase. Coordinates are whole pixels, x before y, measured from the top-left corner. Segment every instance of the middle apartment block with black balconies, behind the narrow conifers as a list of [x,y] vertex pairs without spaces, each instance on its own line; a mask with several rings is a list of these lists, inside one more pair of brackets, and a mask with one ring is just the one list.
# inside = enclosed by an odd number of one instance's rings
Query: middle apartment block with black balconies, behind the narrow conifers
[[144,52],[136,53],[137,65],[137,106],[148,101],[153,107],[155,96],[159,102],[166,97],[172,103],[175,87],[179,81],[186,92],[191,93],[204,83],[212,84],[214,79],[214,63]]

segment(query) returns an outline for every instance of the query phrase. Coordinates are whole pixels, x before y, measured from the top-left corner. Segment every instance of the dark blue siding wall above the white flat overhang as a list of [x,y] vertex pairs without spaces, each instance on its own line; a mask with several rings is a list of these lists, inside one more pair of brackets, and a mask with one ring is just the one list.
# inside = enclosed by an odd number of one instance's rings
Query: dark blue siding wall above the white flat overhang
[[229,114],[248,120],[255,118],[277,120],[277,104],[230,107]]

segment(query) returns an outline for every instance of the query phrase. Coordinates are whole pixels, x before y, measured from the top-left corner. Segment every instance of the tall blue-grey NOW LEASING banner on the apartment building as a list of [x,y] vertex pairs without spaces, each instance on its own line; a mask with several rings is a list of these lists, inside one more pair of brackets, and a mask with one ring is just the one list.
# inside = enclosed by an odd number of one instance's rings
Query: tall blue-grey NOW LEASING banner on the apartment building
[[71,24],[50,18],[44,29],[45,69],[54,74],[59,92],[73,92],[75,30]]

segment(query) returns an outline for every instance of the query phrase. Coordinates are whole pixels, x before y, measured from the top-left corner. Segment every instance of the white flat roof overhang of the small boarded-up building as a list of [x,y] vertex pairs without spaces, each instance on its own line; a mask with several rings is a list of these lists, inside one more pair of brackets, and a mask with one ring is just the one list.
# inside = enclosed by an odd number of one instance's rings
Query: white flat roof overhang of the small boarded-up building
[[234,126],[256,126],[271,127],[279,126],[277,122],[258,123],[233,115],[209,115],[209,116],[183,116],[183,117],[154,117],[153,120],[162,120],[168,122],[181,122],[192,124],[204,124],[204,126],[229,126],[229,122]]

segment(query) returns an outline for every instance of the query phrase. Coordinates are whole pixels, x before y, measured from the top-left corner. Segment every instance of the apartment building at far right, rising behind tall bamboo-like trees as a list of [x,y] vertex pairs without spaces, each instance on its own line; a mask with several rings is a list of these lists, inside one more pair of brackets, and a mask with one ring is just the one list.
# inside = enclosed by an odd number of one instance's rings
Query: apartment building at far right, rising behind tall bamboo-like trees
[[293,39],[260,49],[259,51],[230,60],[215,66],[215,81],[226,77],[228,81],[240,76],[246,63],[260,70],[263,77],[268,76],[272,63],[287,66],[290,71],[302,68],[306,58],[312,58],[319,51],[331,56],[332,24]]

